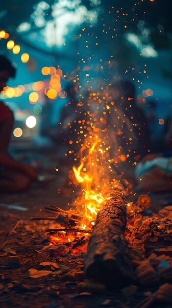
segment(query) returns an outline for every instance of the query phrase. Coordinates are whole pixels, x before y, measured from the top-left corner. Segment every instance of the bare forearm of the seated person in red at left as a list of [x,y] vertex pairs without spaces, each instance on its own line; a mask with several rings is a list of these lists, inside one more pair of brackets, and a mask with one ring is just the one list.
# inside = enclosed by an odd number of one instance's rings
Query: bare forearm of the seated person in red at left
[[5,155],[0,153],[0,165],[16,171],[24,172],[33,181],[38,180],[37,172],[32,166],[17,162],[7,154]]

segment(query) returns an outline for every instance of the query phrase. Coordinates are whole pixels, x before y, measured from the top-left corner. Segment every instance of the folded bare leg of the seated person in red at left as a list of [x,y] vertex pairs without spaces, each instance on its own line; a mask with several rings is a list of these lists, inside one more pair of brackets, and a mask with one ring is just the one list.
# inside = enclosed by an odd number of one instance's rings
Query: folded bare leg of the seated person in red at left
[[11,171],[0,172],[0,191],[19,192],[28,188],[30,179],[22,173]]

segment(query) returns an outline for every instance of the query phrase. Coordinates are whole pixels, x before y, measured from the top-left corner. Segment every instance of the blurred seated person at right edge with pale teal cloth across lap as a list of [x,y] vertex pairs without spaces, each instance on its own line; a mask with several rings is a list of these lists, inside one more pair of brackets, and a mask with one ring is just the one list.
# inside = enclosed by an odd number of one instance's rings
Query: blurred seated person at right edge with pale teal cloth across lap
[[161,132],[152,133],[151,154],[143,157],[135,170],[139,188],[152,192],[172,192],[172,116]]

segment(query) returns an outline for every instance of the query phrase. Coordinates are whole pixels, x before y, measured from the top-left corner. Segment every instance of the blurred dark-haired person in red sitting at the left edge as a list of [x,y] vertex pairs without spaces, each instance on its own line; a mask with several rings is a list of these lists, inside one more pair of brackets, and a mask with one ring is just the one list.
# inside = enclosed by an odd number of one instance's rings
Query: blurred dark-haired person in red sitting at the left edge
[[[14,78],[16,68],[0,55],[0,92],[10,77]],[[37,181],[36,170],[16,161],[8,152],[14,124],[13,112],[0,101],[0,191],[16,192],[26,189],[31,181]]]

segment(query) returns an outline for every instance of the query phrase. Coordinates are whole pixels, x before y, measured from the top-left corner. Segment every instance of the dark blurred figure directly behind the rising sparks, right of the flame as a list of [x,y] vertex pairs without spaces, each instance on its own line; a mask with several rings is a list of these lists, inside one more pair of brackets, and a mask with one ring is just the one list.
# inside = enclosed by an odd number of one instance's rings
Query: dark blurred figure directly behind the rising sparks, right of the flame
[[[111,113],[111,118],[115,123],[117,144],[122,147],[120,154],[128,155],[127,161],[133,165],[147,154],[150,147],[147,118],[136,103],[135,88],[130,81],[117,80],[112,88],[116,111],[113,115]],[[117,116],[118,120],[114,120]]]

